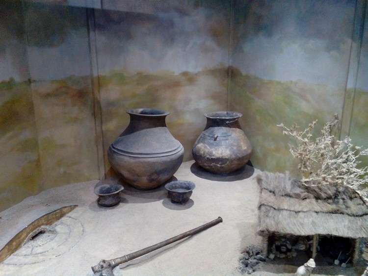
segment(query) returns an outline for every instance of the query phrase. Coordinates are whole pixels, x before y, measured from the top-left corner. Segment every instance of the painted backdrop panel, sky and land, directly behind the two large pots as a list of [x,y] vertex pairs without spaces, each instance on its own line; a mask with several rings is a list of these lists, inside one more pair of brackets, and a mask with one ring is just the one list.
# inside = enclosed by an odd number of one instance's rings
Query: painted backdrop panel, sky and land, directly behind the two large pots
[[125,111],[151,107],[170,112],[167,126],[192,159],[204,113],[227,108],[230,8],[174,1],[150,13],[95,11],[105,153],[129,124]]

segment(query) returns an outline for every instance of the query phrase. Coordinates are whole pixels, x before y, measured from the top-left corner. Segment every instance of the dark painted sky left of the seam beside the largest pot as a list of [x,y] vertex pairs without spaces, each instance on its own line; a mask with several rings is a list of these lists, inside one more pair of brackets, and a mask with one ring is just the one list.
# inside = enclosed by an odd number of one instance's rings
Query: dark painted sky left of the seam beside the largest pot
[[0,1],[0,80],[90,74],[86,11]]

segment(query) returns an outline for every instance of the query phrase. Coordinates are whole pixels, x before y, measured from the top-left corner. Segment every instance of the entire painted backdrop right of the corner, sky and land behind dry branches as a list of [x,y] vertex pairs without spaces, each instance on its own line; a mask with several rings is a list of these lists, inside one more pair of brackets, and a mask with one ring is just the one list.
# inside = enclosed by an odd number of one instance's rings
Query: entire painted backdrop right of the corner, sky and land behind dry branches
[[[235,1],[230,108],[244,114],[253,164],[272,172],[291,171],[295,162],[276,125],[315,133],[338,113],[342,118],[353,41],[356,1]],[[361,4],[361,1],[358,1]],[[367,142],[367,27],[351,136]],[[353,42],[353,43],[352,43]],[[352,61],[354,62],[354,61]],[[347,115],[347,114],[346,114]]]

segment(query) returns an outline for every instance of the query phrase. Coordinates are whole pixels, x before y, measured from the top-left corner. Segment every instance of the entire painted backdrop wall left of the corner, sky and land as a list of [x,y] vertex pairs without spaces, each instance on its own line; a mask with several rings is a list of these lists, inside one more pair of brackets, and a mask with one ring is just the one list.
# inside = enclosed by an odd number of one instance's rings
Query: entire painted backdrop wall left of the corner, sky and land
[[128,109],[169,111],[185,161],[226,110],[230,2],[82,2],[0,3],[0,209],[109,174]]

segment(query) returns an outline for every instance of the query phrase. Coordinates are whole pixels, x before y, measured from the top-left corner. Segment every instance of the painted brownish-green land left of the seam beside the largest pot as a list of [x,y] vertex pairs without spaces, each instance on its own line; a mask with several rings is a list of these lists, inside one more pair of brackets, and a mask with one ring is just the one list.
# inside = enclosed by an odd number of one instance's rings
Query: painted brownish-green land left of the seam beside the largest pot
[[98,178],[86,80],[0,83],[0,209],[48,188]]

